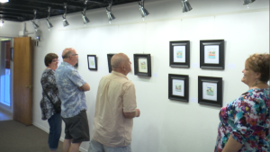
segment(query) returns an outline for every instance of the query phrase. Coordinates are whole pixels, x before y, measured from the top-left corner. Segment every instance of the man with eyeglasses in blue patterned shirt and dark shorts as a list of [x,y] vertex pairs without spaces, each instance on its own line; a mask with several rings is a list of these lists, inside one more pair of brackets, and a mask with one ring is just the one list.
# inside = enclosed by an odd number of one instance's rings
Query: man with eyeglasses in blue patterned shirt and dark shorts
[[78,54],[73,48],[67,48],[62,53],[63,62],[55,72],[61,99],[61,116],[66,124],[63,152],[78,152],[83,141],[89,141],[89,127],[86,116],[85,91],[90,86],[78,74],[74,65]]

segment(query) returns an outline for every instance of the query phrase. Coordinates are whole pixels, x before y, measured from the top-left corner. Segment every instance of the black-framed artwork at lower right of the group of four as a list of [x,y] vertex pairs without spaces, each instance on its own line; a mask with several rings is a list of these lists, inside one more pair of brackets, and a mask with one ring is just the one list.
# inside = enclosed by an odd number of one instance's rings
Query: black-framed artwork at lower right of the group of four
[[198,103],[222,106],[222,77],[198,76]]

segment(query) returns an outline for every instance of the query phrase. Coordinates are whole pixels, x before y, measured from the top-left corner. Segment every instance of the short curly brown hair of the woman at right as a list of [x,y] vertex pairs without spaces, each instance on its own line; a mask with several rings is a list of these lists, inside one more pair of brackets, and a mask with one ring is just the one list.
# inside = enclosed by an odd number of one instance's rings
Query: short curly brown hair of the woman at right
[[246,61],[251,70],[261,74],[260,81],[267,82],[269,80],[269,54],[255,53],[249,56]]

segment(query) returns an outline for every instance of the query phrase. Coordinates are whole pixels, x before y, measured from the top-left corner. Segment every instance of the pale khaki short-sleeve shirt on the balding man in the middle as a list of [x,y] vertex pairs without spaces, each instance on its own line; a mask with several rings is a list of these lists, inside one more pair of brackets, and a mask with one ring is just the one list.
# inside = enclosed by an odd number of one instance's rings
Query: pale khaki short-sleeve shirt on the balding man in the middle
[[135,87],[121,73],[103,76],[96,95],[93,139],[108,147],[124,147],[131,143],[133,119],[123,112],[137,108]]

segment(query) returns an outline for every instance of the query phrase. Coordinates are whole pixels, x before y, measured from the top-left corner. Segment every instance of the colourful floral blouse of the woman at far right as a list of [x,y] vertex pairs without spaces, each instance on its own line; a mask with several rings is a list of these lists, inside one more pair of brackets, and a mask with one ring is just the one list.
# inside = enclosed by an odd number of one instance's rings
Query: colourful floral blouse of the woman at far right
[[250,89],[221,108],[215,152],[222,151],[230,134],[243,144],[238,152],[268,152],[269,88]]

